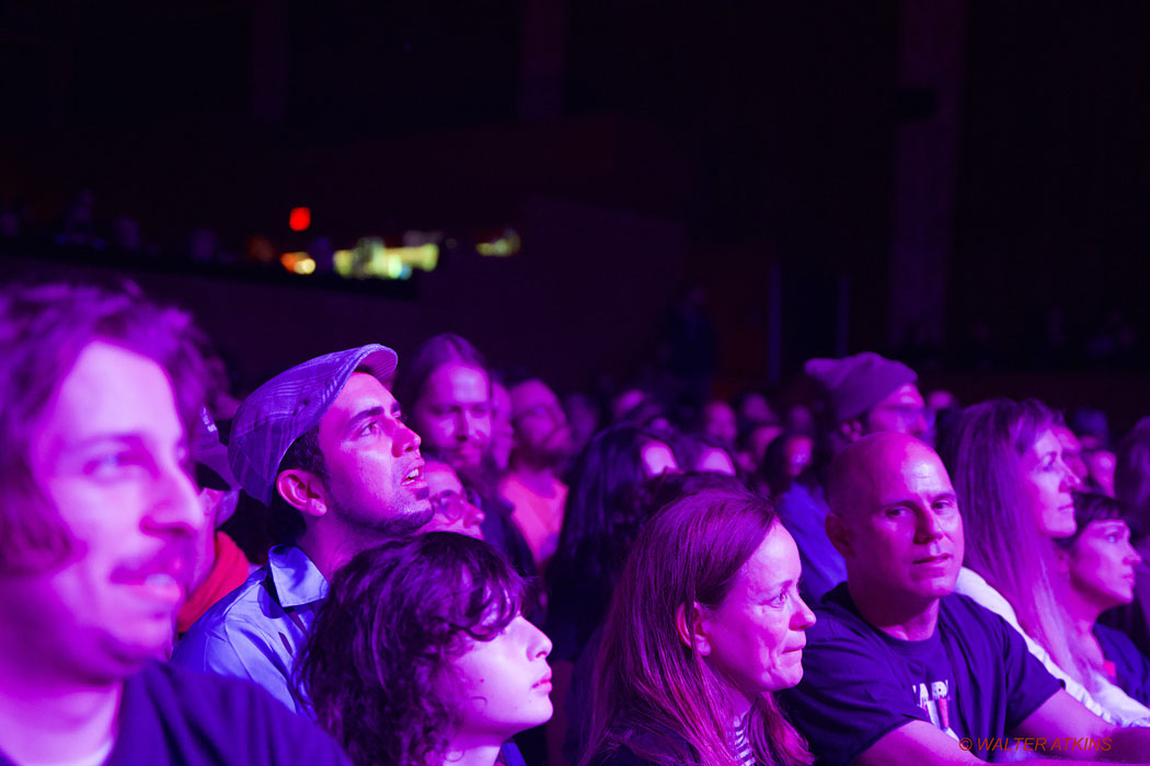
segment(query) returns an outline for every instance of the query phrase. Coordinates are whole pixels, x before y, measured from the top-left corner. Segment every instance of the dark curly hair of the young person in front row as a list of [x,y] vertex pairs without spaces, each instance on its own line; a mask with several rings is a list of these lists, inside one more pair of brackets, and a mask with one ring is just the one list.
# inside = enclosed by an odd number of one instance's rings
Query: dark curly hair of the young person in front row
[[459,725],[452,658],[520,613],[523,580],[486,543],[429,532],[360,552],[332,579],[297,694],[356,766],[425,766]]

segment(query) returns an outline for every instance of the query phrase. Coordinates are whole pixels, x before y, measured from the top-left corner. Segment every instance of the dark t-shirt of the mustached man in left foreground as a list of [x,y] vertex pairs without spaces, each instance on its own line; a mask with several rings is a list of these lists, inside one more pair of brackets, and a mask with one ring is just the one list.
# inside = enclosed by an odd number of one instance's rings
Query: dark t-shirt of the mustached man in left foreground
[[[124,684],[106,766],[350,766],[339,745],[254,683],[151,663]],[[0,753],[0,765],[10,761]]]

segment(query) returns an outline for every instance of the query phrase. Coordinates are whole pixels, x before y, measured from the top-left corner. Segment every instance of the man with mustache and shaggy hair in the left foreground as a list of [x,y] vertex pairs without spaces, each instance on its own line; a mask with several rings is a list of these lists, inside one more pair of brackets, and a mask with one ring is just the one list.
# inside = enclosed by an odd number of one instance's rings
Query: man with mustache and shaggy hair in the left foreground
[[0,289],[0,765],[346,764],[250,683],[156,661],[204,525],[187,315]]

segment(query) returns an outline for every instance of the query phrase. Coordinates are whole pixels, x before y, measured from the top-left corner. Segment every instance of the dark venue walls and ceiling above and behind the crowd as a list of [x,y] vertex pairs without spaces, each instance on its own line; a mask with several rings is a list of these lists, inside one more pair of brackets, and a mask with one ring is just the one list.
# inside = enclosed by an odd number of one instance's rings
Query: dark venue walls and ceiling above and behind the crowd
[[[241,389],[448,328],[622,379],[703,285],[719,394],[875,349],[965,397],[1150,410],[1143,2],[17,1],[0,39],[0,203],[44,235],[82,187],[135,217],[166,257],[121,269]],[[297,204],[339,247],[460,245],[402,289],[178,258],[199,226],[298,249]],[[474,253],[506,225],[519,255]]]

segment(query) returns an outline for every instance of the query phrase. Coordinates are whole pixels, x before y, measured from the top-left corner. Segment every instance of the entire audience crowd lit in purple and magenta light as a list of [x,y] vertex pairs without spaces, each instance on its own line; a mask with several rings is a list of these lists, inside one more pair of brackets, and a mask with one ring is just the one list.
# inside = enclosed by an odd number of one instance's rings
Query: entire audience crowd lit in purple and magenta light
[[235,407],[131,283],[0,288],[0,765],[1150,761],[1150,418],[378,340]]

